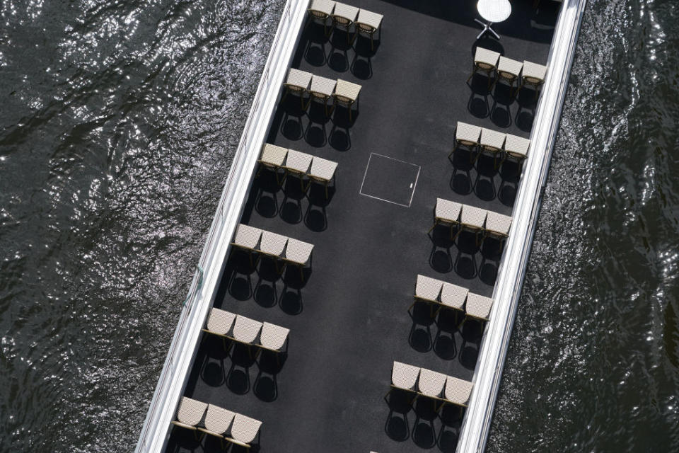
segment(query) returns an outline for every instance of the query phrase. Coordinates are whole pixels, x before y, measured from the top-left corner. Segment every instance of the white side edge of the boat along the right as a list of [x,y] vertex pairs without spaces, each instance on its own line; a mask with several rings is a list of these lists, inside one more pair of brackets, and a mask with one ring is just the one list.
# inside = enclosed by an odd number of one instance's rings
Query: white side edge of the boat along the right
[[585,4],[586,0],[564,0],[559,13],[530,134],[530,151],[514,203],[511,234],[497,275],[493,309],[482,340],[457,453],[479,453],[486,447]]

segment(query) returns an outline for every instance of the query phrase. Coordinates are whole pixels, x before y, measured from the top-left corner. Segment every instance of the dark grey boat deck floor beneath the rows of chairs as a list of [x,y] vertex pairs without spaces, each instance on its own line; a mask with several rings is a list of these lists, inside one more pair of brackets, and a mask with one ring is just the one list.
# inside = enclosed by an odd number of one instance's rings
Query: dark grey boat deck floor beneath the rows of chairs
[[[533,91],[509,103],[501,86],[488,92],[484,76],[465,81],[475,45],[545,64],[559,4],[543,1],[536,16],[532,1],[513,2],[509,20],[494,25],[501,40],[477,42],[475,1],[410,3],[352,3],[385,16],[373,52],[367,40],[350,47],[335,33],[325,61],[322,27],[314,25],[298,43],[292,66],[361,84],[359,110],[349,122],[337,109],[324,128],[322,105],[300,115],[298,99],[287,96],[268,142],[338,162],[335,187],[327,200],[318,185],[305,197],[295,178],[277,190],[263,171],[242,222],[313,243],[311,271],[302,281],[289,267],[277,278],[267,261],[249,270],[248,257],[233,253],[215,302],[289,328],[289,347],[280,363],[268,356],[255,362],[241,348],[226,355],[221,340],[203,338],[185,389],[185,396],[262,420],[253,451],[455,450],[457,409],[435,418],[422,401],[411,409],[383,396],[394,360],[472,379],[482,324],[468,321],[460,330],[445,311],[431,319],[428,307],[415,306],[412,316],[408,307],[417,274],[492,295],[497,245],[477,248],[465,235],[453,243],[444,227],[427,231],[436,197],[511,214],[516,166],[496,172],[492,159],[481,159],[474,168],[464,153],[454,161],[448,153],[458,121],[528,137]],[[199,446],[177,428],[166,451],[202,449],[220,451],[219,442]]]

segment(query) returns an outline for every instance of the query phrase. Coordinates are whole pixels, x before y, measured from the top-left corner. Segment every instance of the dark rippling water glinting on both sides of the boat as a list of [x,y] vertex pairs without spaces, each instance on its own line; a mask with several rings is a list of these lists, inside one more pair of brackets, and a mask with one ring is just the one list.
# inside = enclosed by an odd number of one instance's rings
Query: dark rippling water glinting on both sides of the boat
[[[1,452],[134,448],[282,6],[1,3]],[[677,36],[588,5],[491,452],[679,451]]]

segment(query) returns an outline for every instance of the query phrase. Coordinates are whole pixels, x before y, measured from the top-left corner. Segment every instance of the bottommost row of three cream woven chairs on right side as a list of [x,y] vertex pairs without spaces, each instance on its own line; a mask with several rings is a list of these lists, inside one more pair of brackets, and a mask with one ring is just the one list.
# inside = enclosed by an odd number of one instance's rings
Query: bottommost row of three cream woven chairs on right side
[[[419,396],[430,398],[434,401],[436,412],[446,404],[458,406],[461,412],[467,407],[472,386],[472,382],[457,377],[394,361],[391,386],[384,398],[398,389],[413,394],[411,402]],[[438,406],[439,403],[441,406]]]

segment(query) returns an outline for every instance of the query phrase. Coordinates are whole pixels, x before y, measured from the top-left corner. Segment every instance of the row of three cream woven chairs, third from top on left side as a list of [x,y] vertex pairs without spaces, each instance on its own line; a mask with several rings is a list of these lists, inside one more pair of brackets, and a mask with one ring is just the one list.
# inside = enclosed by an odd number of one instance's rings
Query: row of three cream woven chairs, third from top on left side
[[[299,183],[303,191],[308,190],[311,183],[323,184],[325,186],[325,197],[328,197],[327,187],[335,179],[335,169],[337,162],[321,159],[294,149],[286,149],[274,144],[265,143],[262,147],[262,154],[258,161],[260,175],[262,168],[268,168],[276,175],[279,185],[287,175],[299,178]],[[279,174],[283,171],[283,180],[279,180]],[[304,185],[305,178],[308,184]]]

